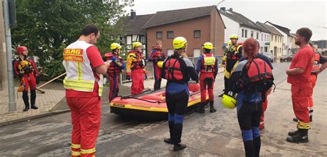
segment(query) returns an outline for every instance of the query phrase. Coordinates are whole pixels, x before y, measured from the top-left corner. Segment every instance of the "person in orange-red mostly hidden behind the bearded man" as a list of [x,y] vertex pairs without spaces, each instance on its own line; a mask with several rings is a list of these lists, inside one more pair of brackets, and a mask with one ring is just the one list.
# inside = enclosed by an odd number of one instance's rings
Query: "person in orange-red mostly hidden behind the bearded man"
[[[313,47],[311,43],[309,43],[309,45]],[[313,48],[313,51],[315,51],[315,48]],[[326,62],[327,62],[326,58],[321,56],[319,53],[315,53],[315,60],[313,61],[313,69],[311,70],[311,74],[310,74],[310,80],[311,83],[313,84],[313,88],[315,88],[318,74],[321,72],[319,68],[319,64],[325,64]],[[324,69],[322,69],[322,71],[324,71]],[[308,109],[309,109],[310,121],[313,121],[313,93],[309,97]],[[294,118],[293,121],[297,122],[298,119]]]

